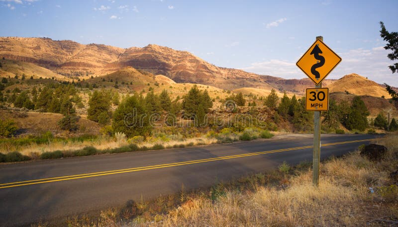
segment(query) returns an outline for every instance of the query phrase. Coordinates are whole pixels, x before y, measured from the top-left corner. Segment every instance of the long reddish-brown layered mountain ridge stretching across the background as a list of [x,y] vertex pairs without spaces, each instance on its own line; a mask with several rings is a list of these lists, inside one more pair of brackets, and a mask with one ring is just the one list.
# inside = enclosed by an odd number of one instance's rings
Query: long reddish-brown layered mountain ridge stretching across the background
[[[83,45],[71,40],[0,37],[0,57],[16,61],[14,65],[22,64],[18,62],[32,63],[58,75],[51,76],[50,73],[46,73],[47,76],[56,78],[66,76],[87,79],[91,76],[110,75],[126,67],[133,67],[153,75],[167,76],[177,83],[199,83],[228,90],[250,87],[265,90],[268,93],[274,88],[279,92],[286,90],[288,93],[303,95],[305,88],[314,86],[306,78],[284,79],[216,67],[189,52],[153,44],[143,48],[123,49],[102,44]],[[10,72],[13,71],[0,69],[0,75]],[[123,70],[120,72],[122,73]],[[371,80],[362,80],[357,76],[345,76],[336,81],[325,79],[323,86],[330,85],[332,91],[347,90],[353,94],[390,97],[387,92],[383,92],[385,89],[381,85]],[[371,86],[369,82],[373,82]],[[260,90],[255,91],[260,92]]]

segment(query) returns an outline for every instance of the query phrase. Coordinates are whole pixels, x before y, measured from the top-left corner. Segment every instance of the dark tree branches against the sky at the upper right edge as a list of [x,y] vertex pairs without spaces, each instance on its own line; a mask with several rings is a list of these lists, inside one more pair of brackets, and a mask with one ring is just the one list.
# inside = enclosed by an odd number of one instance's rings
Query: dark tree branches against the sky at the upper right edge
[[[387,45],[384,47],[386,50],[392,50],[393,53],[390,53],[387,55],[387,57],[391,60],[397,60],[398,59],[398,32],[389,32],[387,31],[386,27],[384,26],[384,23],[380,21],[380,27],[382,30],[380,30],[380,36],[384,39],[384,41],[387,41]],[[395,73],[398,71],[398,63],[393,64],[392,66],[389,66],[390,70]]]

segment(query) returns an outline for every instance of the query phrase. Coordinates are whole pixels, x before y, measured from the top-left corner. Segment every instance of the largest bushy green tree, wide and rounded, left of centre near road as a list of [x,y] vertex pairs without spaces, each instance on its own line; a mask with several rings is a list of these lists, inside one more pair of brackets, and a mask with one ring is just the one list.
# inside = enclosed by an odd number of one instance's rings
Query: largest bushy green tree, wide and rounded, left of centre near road
[[146,109],[142,97],[134,94],[124,98],[113,113],[113,132],[124,133],[127,137],[149,135],[152,128],[149,125],[149,116],[143,117],[144,114]]

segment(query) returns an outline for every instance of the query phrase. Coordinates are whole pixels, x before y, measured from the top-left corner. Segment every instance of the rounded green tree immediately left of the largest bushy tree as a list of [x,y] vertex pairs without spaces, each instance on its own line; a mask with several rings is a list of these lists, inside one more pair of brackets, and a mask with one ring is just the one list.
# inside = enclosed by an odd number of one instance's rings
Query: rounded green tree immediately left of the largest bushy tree
[[89,120],[99,122],[101,113],[108,114],[110,108],[110,100],[103,91],[95,90],[89,99],[89,109],[87,110],[87,118]]

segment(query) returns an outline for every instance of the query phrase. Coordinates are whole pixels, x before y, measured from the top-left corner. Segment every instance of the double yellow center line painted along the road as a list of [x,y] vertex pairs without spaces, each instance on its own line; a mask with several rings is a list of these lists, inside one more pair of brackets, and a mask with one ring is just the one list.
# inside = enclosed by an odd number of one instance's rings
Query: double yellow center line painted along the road
[[[373,140],[373,139],[355,140],[355,141],[346,141],[346,142],[337,142],[337,143],[331,143],[331,144],[324,144],[324,145],[322,145],[322,147],[340,145],[340,144],[359,143],[359,142],[365,142],[365,141],[370,141],[370,140]],[[85,174],[70,175],[70,176],[59,176],[59,177],[43,178],[43,179],[37,179],[37,180],[25,180],[25,181],[18,181],[18,182],[0,184],[0,189],[1,188],[11,188],[11,187],[32,185],[32,184],[43,184],[43,183],[50,183],[50,182],[57,182],[57,181],[64,181],[64,180],[74,180],[74,179],[88,178],[88,177],[97,177],[97,176],[104,176],[104,175],[111,175],[111,174],[135,172],[135,171],[142,171],[142,170],[149,170],[149,169],[159,169],[159,168],[166,168],[166,167],[179,166],[179,165],[189,165],[189,164],[195,164],[195,163],[201,163],[201,162],[218,161],[218,160],[225,160],[225,159],[231,159],[231,158],[267,154],[267,153],[277,153],[277,152],[284,152],[284,151],[295,151],[295,150],[308,149],[308,148],[312,148],[312,146],[280,149],[280,150],[273,150],[273,151],[260,151],[260,152],[236,154],[236,155],[221,156],[221,157],[213,157],[213,158],[206,158],[206,159],[199,159],[199,160],[174,162],[174,163],[160,164],[160,165],[150,165],[150,166],[143,166],[143,167],[117,169],[117,170],[85,173]]]

